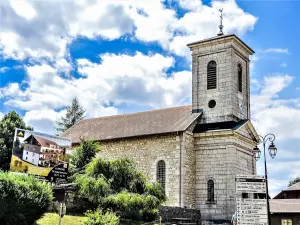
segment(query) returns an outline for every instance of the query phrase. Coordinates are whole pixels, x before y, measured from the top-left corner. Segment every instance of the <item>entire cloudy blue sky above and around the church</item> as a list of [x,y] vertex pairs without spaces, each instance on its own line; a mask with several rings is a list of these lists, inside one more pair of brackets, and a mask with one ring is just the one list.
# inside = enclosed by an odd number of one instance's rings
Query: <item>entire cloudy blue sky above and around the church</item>
[[[276,135],[272,195],[300,176],[299,1],[1,1],[0,116],[35,130],[77,96],[86,117],[191,102],[186,44],[215,36],[218,9],[251,58],[252,120]],[[298,50],[298,51],[297,51]],[[262,161],[258,173],[263,173]]]

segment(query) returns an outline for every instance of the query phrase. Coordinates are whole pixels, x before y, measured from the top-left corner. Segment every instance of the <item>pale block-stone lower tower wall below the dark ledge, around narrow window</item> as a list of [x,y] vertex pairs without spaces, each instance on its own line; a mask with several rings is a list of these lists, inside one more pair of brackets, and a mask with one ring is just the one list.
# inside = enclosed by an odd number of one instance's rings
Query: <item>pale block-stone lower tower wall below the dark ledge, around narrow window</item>
[[[194,134],[196,208],[205,220],[230,220],[236,208],[236,174],[254,174],[255,143],[232,130]],[[215,203],[208,204],[207,181],[214,180]]]

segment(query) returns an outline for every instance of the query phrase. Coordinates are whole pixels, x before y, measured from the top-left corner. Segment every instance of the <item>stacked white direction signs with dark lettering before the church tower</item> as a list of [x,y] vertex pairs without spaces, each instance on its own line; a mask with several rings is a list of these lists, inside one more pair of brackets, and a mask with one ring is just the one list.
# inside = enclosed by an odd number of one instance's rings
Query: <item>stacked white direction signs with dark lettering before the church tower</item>
[[[257,198],[258,194],[266,195],[266,182],[263,176],[237,175],[236,194],[239,225],[268,224],[267,199]],[[243,198],[243,194],[246,194],[247,198]]]

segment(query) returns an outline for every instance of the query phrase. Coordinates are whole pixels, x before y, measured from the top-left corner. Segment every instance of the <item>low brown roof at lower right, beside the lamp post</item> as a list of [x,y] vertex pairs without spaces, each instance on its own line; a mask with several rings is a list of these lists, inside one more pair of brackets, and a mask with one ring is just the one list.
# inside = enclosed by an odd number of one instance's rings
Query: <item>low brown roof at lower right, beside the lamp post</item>
[[300,213],[300,199],[271,199],[271,213]]

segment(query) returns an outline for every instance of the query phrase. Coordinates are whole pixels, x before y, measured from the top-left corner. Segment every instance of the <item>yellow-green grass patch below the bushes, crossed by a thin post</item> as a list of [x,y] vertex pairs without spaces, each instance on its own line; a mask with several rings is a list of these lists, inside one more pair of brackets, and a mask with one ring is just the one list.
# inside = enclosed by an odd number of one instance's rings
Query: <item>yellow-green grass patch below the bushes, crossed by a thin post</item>
[[[84,216],[65,215],[62,218],[63,225],[82,225]],[[36,225],[57,225],[58,214],[46,213],[41,219],[36,222]]]

